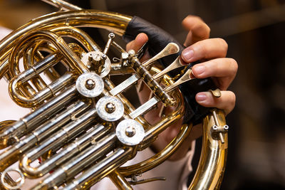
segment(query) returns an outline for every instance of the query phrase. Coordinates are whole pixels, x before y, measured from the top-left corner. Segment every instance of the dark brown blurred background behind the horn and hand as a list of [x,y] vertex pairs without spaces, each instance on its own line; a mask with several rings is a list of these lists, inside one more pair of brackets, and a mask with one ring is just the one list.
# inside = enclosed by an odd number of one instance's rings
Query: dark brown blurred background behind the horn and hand
[[[94,0],[83,8],[137,15],[183,43],[180,23],[200,16],[211,38],[224,38],[227,56],[239,63],[229,90],[237,95],[228,115],[229,157],[222,189],[285,189],[285,1],[284,0]],[[0,0],[0,26],[18,28],[54,11],[33,0]],[[197,159],[199,154],[197,152]],[[196,161],[194,161],[196,162]]]

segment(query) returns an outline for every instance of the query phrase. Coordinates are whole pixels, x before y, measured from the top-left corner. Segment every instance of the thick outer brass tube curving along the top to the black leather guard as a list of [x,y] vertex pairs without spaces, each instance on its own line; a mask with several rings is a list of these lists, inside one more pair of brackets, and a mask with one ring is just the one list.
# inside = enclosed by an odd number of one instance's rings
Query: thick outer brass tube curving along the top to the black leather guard
[[93,26],[105,28],[123,36],[125,28],[128,26],[131,19],[131,16],[95,10],[60,12],[33,19],[21,28],[11,32],[9,36],[6,36],[0,41],[0,78],[2,78],[8,70],[7,56],[11,52],[12,45],[18,43],[28,31],[38,31],[50,26],[53,28],[54,26],[65,26],[66,21],[68,21],[69,26]]

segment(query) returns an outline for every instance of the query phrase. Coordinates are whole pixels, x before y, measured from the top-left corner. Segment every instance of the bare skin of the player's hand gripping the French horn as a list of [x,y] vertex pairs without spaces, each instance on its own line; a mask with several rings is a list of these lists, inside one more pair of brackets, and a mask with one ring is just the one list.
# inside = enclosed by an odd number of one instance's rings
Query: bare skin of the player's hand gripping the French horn
[[[221,97],[214,97],[212,93],[202,92],[197,93],[195,96],[196,101],[204,107],[217,107],[229,114],[234,109],[236,97],[232,91],[227,90],[229,85],[234,80],[237,74],[237,61],[233,58],[226,58],[227,56],[227,43],[222,38],[209,38],[210,28],[202,19],[197,16],[187,16],[182,21],[182,26],[188,31],[185,39],[184,51],[182,51],[181,58],[185,63],[192,63],[199,60],[201,63],[194,65],[192,68],[192,74],[195,78],[207,78],[211,77],[214,83],[221,90]],[[140,33],[134,41],[127,44],[127,50],[133,49],[138,51],[140,47],[147,42],[148,38],[145,33]],[[142,57],[142,61],[150,58],[148,53]],[[138,93],[140,102],[145,102],[150,94],[150,90],[143,88]],[[170,110],[167,111],[171,111]],[[160,118],[157,116],[159,107],[155,110],[151,110],[145,119],[154,124]],[[163,149],[170,141],[176,137],[180,130],[182,120],[176,122],[162,132],[157,140],[152,144],[152,149],[155,152]],[[177,149],[177,152],[173,154],[169,159],[172,161],[185,157],[187,151],[190,149],[190,144],[193,140],[197,139],[202,134],[201,125],[196,125],[192,128],[192,132],[189,137],[182,143],[182,146]]]

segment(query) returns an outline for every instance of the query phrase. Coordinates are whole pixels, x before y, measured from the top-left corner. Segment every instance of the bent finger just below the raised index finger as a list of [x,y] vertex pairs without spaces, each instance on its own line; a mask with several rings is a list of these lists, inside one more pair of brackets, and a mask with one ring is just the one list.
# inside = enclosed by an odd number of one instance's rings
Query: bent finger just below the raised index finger
[[197,60],[224,58],[227,55],[227,43],[222,38],[211,38],[198,41],[182,51],[182,59],[186,63]]

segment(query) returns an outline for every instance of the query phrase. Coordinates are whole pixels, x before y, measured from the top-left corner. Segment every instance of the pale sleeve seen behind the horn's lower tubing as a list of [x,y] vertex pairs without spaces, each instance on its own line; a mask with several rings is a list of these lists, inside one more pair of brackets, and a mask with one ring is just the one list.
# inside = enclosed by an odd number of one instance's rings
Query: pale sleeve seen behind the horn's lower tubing
[[[171,162],[165,161],[160,166],[151,169],[150,171],[145,172],[142,176],[138,176],[138,180],[140,179],[149,179],[157,176],[164,176],[166,181],[152,181],[145,184],[138,184],[133,186],[134,190],[157,190],[157,189],[167,189],[167,190],[185,190],[187,189],[187,180],[190,172],[192,171],[192,157],[194,154],[195,142],[192,142],[192,149],[187,155],[178,161]],[[150,148],[143,150],[142,152],[138,152],[136,157],[130,161],[128,161],[125,165],[136,164],[141,162],[149,157],[152,157],[154,153]],[[117,189],[113,182],[108,178],[104,178],[98,184],[95,184],[91,189],[108,189],[115,190]]]

